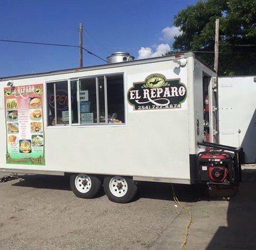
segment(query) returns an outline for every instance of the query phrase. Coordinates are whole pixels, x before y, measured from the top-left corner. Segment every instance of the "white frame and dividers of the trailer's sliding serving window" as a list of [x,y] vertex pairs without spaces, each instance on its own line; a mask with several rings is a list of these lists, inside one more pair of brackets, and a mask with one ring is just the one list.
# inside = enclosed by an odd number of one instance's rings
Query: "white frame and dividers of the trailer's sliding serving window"
[[[108,76],[122,76],[123,77],[123,110],[124,110],[124,123],[121,124],[108,124],[108,94],[107,94],[107,77]],[[99,100],[99,85],[98,85],[98,78],[104,78],[104,93],[105,93],[105,123],[100,123],[100,100]],[[81,124],[81,112],[80,112],[80,97],[79,97],[79,91],[80,91],[80,81],[82,79],[88,79],[88,78],[95,78],[95,84],[96,84],[96,112],[97,112],[97,123],[91,123],[91,124]],[[54,116],[56,117],[56,83],[67,81],[68,82],[68,112],[69,112],[69,123],[68,124],[56,124],[54,126],[51,126],[48,124],[48,113],[49,113],[49,107],[48,107],[48,91],[47,87],[48,84],[54,84]],[[77,100],[78,100],[78,123],[72,123],[72,110],[71,110],[71,81],[76,81],[76,88],[77,88]],[[68,79],[56,79],[51,81],[46,81],[46,91],[45,91],[45,100],[46,100],[46,128],[95,128],[95,127],[109,127],[109,126],[126,126],[126,120],[127,120],[127,112],[126,112],[126,95],[125,95],[125,73],[124,72],[118,72],[118,73],[108,73],[108,74],[95,74],[91,76],[82,76],[78,78],[68,78]]]

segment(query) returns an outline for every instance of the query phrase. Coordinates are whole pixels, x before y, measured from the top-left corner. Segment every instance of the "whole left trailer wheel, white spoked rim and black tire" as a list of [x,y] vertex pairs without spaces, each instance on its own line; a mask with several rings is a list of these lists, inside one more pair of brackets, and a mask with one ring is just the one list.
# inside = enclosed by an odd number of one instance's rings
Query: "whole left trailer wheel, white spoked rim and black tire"
[[72,174],[70,176],[70,187],[76,197],[91,199],[101,189],[101,180],[88,174]]

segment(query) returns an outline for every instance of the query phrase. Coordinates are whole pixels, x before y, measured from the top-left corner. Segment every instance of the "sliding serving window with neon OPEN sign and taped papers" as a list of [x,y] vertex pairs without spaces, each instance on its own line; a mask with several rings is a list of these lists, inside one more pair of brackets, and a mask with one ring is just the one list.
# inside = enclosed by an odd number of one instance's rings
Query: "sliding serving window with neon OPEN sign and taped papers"
[[46,85],[48,126],[125,123],[123,74]]

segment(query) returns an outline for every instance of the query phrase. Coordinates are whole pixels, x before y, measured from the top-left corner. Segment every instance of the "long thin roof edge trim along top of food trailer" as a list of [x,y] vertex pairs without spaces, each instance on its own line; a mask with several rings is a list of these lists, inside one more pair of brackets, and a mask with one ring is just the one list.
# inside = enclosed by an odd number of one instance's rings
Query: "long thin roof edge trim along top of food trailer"
[[[178,53],[178,54],[182,55],[182,58],[188,58],[190,56],[192,56],[193,58],[196,58],[195,54],[193,54],[193,53]],[[38,76],[52,76],[52,75],[56,75],[56,74],[91,71],[91,70],[96,70],[96,69],[119,68],[119,67],[138,65],[138,64],[156,63],[156,62],[161,62],[161,61],[168,61],[170,59],[178,59],[178,58],[175,58],[175,55],[178,55],[178,54],[172,54],[170,56],[161,56],[158,58],[138,59],[138,60],[134,60],[134,61],[128,61],[125,63],[111,63],[111,64],[102,64],[102,65],[89,66],[89,67],[83,67],[83,68],[62,69],[62,70],[58,70],[58,71],[49,71],[49,72],[44,72],[44,73],[6,76],[3,78],[0,78],[0,81],[8,81],[8,80],[24,79],[24,78],[35,78]]]

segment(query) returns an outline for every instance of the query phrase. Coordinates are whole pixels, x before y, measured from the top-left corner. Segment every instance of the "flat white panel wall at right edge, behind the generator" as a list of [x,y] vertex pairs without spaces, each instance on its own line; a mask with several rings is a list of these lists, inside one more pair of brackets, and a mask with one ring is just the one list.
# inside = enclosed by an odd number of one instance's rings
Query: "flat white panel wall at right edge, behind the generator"
[[220,144],[242,147],[245,163],[256,160],[256,83],[253,76],[219,78]]

